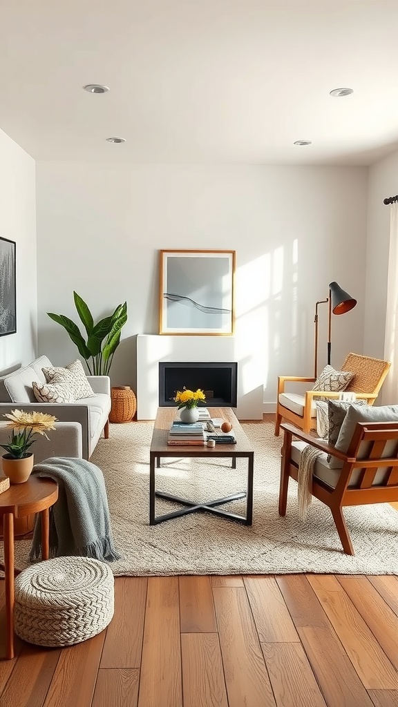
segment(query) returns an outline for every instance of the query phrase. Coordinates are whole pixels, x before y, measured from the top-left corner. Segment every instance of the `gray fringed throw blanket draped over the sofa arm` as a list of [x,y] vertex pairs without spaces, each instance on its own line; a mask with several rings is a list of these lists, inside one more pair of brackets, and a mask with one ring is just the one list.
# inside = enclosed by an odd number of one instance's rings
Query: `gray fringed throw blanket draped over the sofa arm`
[[[51,457],[35,464],[32,474],[54,479],[58,500],[50,508],[50,557],[81,555],[119,560],[113,544],[108,498],[101,469],[85,459]],[[41,518],[36,516],[31,562],[40,559]]]

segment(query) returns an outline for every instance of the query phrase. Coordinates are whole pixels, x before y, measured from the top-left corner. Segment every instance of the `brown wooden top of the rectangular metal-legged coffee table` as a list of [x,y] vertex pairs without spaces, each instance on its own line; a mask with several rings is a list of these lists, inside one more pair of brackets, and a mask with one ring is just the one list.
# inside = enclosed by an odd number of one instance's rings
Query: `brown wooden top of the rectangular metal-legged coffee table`
[[[212,417],[228,420],[232,424],[232,430],[237,438],[236,444],[216,444],[215,447],[207,447],[206,445],[168,445],[167,437],[171,423],[173,420],[179,419],[179,414],[176,407],[159,407],[154,423],[151,452],[159,452],[159,455],[172,457],[188,456],[187,452],[192,457],[195,455],[238,457],[247,456],[248,453],[254,451],[253,443],[249,440],[237,416],[230,407],[210,407],[208,410]],[[226,452],[228,453],[226,454]]]

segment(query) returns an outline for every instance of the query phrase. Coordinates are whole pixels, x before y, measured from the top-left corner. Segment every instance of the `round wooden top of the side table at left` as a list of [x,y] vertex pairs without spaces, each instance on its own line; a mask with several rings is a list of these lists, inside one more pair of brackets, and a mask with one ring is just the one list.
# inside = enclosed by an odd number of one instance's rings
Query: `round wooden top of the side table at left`
[[52,479],[39,479],[30,476],[23,484],[11,484],[10,488],[0,493],[0,515],[13,513],[19,515],[39,513],[52,506],[58,498],[58,484]]

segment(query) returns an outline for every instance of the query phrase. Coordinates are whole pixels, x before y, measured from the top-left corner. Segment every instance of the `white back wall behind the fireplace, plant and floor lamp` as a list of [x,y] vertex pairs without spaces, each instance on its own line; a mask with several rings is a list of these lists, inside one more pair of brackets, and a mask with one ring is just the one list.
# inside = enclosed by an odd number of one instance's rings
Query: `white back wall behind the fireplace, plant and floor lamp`
[[[241,346],[265,339],[264,400],[278,374],[312,373],[314,303],[336,280],[358,299],[333,317],[332,363],[363,351],[366,168],[38,162],[39,351],[76,349],[46,316],[76,320],[72,291],[95,317],[127,299],[113,385],[135,387],[135,335],[157,334],[159,250],[237,251]],[[323,309],[322,309],[323,307]],[[326,305],[319,367],[326,363]]]

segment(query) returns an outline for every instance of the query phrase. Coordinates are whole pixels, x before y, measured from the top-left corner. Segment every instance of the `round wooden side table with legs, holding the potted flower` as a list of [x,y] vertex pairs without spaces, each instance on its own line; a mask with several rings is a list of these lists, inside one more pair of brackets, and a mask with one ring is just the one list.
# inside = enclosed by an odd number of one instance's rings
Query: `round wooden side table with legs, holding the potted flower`
[[14,518],[21,518],[30,513],[41,513],[42,559],[50,555],[50,506],[58,498],[58,485],[52,479],[29,477],[23,484],[13,484],[7,491],[0,493],[0,518],[3,520],[4,571],[6,590],[6,658],[14,657]]

